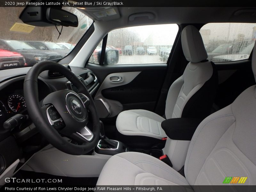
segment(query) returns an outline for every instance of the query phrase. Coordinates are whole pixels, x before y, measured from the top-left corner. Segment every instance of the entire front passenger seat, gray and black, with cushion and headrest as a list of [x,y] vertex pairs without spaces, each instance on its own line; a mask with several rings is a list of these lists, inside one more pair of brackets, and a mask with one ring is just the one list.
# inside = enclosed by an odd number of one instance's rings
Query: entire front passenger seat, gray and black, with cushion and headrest
[[[182,76],[171,85],[166,105],[165,117],[191,117],[202,120],[210,115],[218,86],[218,74],[214,63],[206,60],[207,53],[202,37],[195,26],[186,26],[181,33],[183,53],[189,61]],[[116,119],[116,127],[121,136],[118,138],[131,143],[149,137],[142,142],[152,142],[166,137],[161,128],[165,119],[156,113],[143,110],[121,112]],[[150,141],[149,141],[150,140]]]

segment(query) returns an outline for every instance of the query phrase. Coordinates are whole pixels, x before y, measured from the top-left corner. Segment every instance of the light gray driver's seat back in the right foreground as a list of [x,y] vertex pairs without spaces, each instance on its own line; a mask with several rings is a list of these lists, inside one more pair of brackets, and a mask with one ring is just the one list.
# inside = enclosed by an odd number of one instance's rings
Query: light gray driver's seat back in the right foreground
[[[255,47],[252,69],[256,80]],[[184,168],[189,184],[256,185],[255,138],[256,85],[253,85],[197,127]]]

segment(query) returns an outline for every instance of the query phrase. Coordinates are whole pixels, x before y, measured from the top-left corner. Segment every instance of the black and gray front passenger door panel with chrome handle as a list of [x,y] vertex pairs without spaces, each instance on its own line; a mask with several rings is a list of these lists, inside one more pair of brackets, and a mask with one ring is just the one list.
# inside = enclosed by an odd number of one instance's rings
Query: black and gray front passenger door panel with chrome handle
[[[94,100],[101,118],[128,109],[154,111],[166,73],[166,64],[99,66],[88,63],[100,80]],[[122,81],[116,83],[118,77]]]

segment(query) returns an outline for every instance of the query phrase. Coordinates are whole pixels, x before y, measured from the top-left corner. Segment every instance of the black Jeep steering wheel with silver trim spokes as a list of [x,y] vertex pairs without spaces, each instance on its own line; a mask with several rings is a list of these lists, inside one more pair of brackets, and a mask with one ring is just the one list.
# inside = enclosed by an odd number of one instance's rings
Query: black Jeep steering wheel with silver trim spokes
[[[52,92],[44,98],[41,107],[37,80],[45,70],[61,73],[78,92],[68,89]],[[35,64],[25,77],[24,96],[30,118],[52,146],[71,155],[84,155],[96,146],[100,120],[94,101],[85,85],[68,68],[51,61]]]

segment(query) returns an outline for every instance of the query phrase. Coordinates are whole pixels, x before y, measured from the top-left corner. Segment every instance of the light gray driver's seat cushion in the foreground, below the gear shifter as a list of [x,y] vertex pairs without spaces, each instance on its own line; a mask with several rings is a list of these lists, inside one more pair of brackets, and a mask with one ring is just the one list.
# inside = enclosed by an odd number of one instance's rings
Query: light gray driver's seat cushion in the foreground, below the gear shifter
[[191,189],[186,178],[172,167],[138,152],[112,156],[103,167],[97,185],[183,185]]

